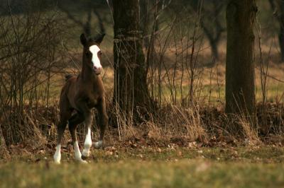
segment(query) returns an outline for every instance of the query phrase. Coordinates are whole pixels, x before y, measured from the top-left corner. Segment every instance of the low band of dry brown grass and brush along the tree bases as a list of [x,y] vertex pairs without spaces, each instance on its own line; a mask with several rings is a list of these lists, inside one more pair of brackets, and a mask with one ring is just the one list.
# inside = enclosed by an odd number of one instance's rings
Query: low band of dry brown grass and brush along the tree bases
[[[262,108],[262,105],[258,105],[259,110]],[[251,127],[251,123],[245,117],[229,118],[222,108],[168,105],[155,114],[150,114],[150,117],[144,119],[140,124],[120,124],[119,129],[116,125],[110,124],[105,140],[107,146],[125,141],[134,141],[135,143],[142,140],[143,144],[147,146],[168,146],[170,143],[187,146],[188,143],[194,141],[204,146],[214,146],[220,142],[282,143],[283,105],[268,103],[266,109],[269,112],[266,122],[269,124],[261,124],[263,117],[258,113],[258,124],[256,127]],[[22,119],[25,121],[21,122],[22,128],[18,130],[18,133],[12,134],[9,129],[2,129],[6,144],[11,146],[11,144],[22,143],[32,146],[34,150],[53,148],[55,146],[58,108],[38,107],[36,111],[25,112],[24,115]],[[3,122],[3,124],[9,125],[8,122]],[[79,128],[77,134],[82,144],[85,136],[84,127],[81,125]],[[92,139],[96,141],[98,138],[97,126],[94,125],[92,130]],[[13,140],[15,134],[20,134],[22,140],[15,142]],[[70,141],[70,134],[65,131],[63,144],[69,146]]]

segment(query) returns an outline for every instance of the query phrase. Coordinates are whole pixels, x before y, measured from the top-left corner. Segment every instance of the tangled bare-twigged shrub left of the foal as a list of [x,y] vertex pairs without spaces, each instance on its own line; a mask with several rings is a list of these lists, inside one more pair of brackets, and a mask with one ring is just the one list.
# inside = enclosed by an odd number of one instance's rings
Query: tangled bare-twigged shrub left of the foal
[[9,6],[10,16],[0,18],[0,117],[6,144],[31,133],[41,138],[32,110],[50,105],[51,78],[62,70],[58,47],[64,24],[58,13],[27,10],[13,15]]

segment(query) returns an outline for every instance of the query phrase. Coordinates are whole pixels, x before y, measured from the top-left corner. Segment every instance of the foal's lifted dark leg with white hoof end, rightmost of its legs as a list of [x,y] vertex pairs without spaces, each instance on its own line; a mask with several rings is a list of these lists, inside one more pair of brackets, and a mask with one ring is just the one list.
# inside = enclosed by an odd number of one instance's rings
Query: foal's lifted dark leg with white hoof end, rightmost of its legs
[[94,143],[95,148],[101,148],[102,147],[102,141],[104,139],[104,131],[108,124],[108,117],[107,117],[107,111],[106,111],[106,103],[104,98],[102,100],[99,100],[99,104],[97,105],[97,111],[99,114],[99,141]]

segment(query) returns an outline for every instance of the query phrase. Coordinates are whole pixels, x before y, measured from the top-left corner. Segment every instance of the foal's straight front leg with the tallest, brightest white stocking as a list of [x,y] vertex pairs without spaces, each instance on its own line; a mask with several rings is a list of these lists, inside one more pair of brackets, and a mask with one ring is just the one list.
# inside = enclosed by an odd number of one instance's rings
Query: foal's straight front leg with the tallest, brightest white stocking
[[82,160],[86,160],[89,157],[89,149],[92,146],[92,137],[91,137],[91,127],[92,127],[92,112],[88,110],[84,112],[84,124],[87,127],[87,135],[86,139],[84,140],[84,150],[82,152]]

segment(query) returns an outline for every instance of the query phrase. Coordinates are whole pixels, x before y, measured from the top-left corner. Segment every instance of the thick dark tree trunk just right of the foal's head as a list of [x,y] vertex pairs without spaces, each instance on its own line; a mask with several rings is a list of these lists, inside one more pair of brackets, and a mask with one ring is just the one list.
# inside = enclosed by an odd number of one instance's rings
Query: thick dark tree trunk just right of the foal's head
[[150,109],[138,0],[114,0],[114,105],[126,117]]

